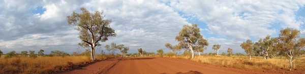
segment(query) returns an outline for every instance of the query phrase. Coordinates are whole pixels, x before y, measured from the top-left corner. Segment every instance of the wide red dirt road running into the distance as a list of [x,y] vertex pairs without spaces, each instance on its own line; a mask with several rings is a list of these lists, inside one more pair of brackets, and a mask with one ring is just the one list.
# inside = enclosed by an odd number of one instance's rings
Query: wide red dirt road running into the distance
[[229,68],[215,65],[202,64],[186,59],[141,57],[141,58],[113,58],[88,65],[64,73],[280,73],[259,70]]

